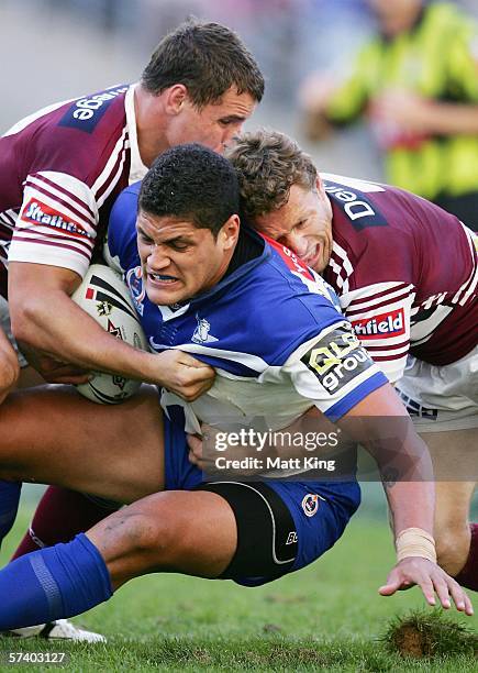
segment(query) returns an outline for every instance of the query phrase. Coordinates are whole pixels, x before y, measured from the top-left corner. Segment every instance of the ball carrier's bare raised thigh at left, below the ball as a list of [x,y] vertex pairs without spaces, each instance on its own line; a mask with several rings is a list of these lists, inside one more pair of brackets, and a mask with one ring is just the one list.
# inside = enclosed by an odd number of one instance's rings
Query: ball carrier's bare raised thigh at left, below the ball
[[0,475],[118,501],[164,485],[163,415],[145,386],[116,406],[70,386],[18,390],[0,406]]

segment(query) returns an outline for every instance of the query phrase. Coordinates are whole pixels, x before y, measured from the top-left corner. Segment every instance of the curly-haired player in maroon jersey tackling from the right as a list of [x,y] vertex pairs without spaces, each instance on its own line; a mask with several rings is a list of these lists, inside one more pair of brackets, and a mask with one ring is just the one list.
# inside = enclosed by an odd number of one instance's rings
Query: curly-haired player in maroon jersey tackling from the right
[[434,461],[438,561],[478,591],[476,234],[410,192],[319,175],[278,132],[245,134],[227,156],[249,223],[323,274],[396,384]]

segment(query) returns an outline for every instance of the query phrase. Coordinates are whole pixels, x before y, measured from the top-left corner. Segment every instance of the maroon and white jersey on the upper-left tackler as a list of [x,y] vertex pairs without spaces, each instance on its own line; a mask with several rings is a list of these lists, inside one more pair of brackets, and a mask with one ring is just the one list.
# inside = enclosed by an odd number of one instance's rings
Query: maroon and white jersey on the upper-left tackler
[[0,137],[0,293],[7,266],[31,262],[81,277],[120,194],[144,177],[134,86],[58,102]]

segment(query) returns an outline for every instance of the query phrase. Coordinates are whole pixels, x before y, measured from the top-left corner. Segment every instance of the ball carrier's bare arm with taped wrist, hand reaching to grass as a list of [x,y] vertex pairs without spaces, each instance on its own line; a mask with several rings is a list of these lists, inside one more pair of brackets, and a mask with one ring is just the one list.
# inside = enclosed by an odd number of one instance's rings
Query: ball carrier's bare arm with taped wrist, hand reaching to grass
[[[393,417],[399,420],[399,424],[390,446],[390,439],[386,435],[380,438],[380,434],[390,430]],[[375,390],[344,418],[348,434],[354,434],[354,439],[374,455],[382,472],[392,517],[399,560],[387,584],[380,587],[380,594],[390,596],[398,589],[418,584],[430,605],[435,605],[436,592],[444,608],[451,607],[452,597],[458,610],[471,614],[470,603],[458,583],[436,564],[432,462],[426,445],[414,431],[393,389],[386,385]],[[355,423],[354,418],[359,419],[359,422]],[[399,451],[398,461],[390,460],[391,451],[396,455]],[[387,473],[393,465],[398,473],[397,481],[387,482]]]

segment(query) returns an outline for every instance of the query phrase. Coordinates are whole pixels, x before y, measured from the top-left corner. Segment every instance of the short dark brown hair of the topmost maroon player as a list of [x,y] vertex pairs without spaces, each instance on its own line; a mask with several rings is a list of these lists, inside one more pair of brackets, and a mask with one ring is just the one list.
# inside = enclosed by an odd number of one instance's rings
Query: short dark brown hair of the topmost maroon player
[[220,100],[232,86],[257,102],[264,96],[264,77],[241,37],[220,23],[196,20],[163,37],[141,82],[154,95],[182,84],[198,108]]

